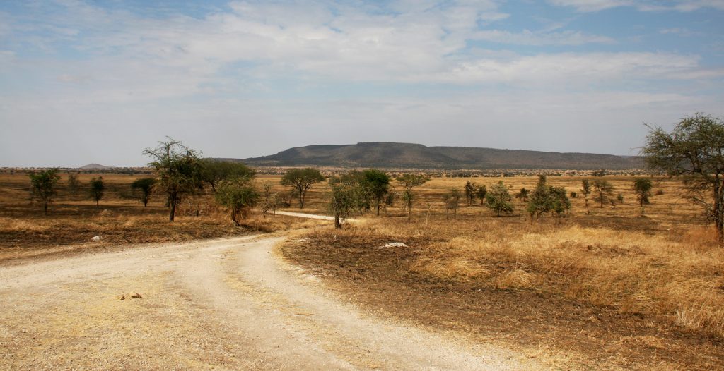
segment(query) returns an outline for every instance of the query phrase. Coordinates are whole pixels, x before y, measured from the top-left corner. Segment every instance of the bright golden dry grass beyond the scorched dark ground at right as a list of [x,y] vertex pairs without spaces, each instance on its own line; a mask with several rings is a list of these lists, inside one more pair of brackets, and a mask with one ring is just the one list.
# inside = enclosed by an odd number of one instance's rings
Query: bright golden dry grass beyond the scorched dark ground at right
[[335,233],[413,238],[421,253],[411,271],[437,279],[555,294],[724,338],[724,250],[708,228],[652,235],[502,218],[484,225],[370,219]]

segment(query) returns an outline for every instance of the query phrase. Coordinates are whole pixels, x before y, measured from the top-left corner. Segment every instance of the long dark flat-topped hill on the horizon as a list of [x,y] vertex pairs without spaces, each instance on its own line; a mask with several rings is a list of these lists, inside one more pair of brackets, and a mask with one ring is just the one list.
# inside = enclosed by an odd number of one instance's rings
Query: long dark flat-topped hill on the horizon
[[423,144],[380,141],[295,147],[277,154],[242,161],[252,166],[410,169],[625,170],[644,167],[641,157],[636,156],[479,147],[427,147]]

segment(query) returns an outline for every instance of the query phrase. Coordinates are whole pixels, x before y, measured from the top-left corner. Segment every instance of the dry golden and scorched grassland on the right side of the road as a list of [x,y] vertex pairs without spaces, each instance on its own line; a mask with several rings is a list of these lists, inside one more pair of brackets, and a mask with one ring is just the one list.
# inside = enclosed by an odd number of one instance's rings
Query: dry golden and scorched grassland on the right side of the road
[[[675,180],[654,178],[642,211],[633,179],[607,177],[623,203],[586,207],[579,196],[562,218],[531,220],[514,200],[506,217],[476,202],[446,220],[442,194],[466,180],[503,180],[513,194],[536,178],[434,178],[418,191],[412,222],[390,209],[343,230],[317,228],[282,251],[354,300],[422,323],[496,333],[549,355],[567,348],[594,368],[720,368],[724,250],[715,230]],[[549,183],[580,194],[580,177]],[[409,248],[381,248],[389,242]]]

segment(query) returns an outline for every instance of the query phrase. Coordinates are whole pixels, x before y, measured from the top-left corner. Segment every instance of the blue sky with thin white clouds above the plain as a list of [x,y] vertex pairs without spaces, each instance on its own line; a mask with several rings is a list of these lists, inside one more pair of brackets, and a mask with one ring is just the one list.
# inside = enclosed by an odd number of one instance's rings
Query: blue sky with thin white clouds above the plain
[[399,141],[633,155],[724,115],[724,0],[0,1],[0,166]]

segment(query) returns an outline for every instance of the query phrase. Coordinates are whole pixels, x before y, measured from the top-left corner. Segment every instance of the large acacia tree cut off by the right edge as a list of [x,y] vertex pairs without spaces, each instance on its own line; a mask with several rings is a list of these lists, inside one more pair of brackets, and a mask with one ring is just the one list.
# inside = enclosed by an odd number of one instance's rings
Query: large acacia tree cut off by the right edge
[[649,126],[641,154],[647,165],[681,176],[686,197],[713,220],[724,243],[724,122],[711,115],[686,116],[669,133]]

